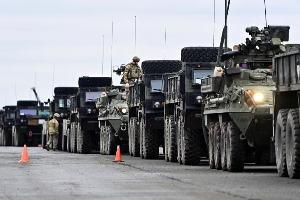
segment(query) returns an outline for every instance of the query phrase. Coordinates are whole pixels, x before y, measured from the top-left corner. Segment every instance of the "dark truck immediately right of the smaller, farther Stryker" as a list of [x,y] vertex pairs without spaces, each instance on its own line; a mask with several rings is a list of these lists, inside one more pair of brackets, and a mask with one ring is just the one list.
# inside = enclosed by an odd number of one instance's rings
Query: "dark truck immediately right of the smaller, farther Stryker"
[[140,82],[129,87],[129,153],[155,159],[159,146],[164,146],[164,94],[162,76],[178,72],[180,60],[149,60],[142,62]]

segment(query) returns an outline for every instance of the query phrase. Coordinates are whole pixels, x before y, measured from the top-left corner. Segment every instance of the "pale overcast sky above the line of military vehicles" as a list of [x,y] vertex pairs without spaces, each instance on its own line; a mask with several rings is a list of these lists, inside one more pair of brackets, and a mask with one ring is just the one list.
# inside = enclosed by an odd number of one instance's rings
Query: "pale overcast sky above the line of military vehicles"
[[[265,1],[267,24],[289,25],[288,43],[300,43],[300,0]],[[111,65],[135,52],[141,61],[180,60],[183,47],[213,46],[213,11],[213,0],[0,0],[0,108],[35,100],[34,86],[52,100],[54,87],[101,76],[102,61],[110,77]],[[215,46],[224,13],[225,0],[215,0]],[[246,27],[265,26],[264,0],[231,0],[227,25],[228,46],[244,43]]]

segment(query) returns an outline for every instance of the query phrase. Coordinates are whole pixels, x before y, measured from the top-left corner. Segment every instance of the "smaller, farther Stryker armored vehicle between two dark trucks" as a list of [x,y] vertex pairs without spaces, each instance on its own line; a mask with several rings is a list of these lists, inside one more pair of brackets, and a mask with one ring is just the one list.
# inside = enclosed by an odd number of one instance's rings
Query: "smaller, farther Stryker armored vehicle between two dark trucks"
[[[116,87],[116,86],[114,86]],[[100,153],[115,155],[117,145],[128,152],[128,105],[124,86],[102,93],[97,98],[100,128]]]

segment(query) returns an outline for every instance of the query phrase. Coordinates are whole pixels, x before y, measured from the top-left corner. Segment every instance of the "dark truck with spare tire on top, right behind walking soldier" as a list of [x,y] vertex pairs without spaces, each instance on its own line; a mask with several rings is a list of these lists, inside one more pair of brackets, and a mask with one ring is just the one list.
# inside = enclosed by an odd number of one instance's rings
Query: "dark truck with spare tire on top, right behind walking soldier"
[[45,145],[48,140],[48,122],[53,118],[54,113],[60,114],[58,118],[59,122],[59,139],[57,143],[57,149],[67,151],[67,135],[63,134],[63,120],[70,118],[70,96],[75,95],[78,92],[78,87],[55,87],[53,100],[48,102],[50,104],[49,119],[43,123],[42,127],[42,147],[45,149]]

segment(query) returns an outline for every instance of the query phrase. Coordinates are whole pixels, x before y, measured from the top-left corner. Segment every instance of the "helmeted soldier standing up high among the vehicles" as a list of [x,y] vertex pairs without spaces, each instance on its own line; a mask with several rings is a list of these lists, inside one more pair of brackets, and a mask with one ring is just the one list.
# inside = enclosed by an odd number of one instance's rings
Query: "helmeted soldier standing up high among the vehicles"
[[129,85],[133,84],[135,79],[139,79],[142,75],[142,70],[140,66],[138,66],[139,57],[134,56],[132,58],[132,62],[130,62],[123,73],[123,78],[126,83],[125,91],[126,91],[126,102],[129,105]]

